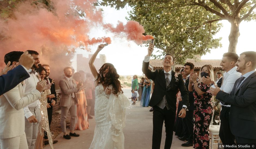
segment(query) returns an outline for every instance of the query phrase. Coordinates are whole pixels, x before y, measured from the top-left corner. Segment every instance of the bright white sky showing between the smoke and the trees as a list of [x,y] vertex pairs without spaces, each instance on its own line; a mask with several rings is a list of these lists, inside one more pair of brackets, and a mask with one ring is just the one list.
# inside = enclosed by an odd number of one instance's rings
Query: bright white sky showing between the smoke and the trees
[[[115,8],[102,7],[103,8],[103,21],[105,23],[117,24],[118,21],[126,24],[127,20],[125,17],[128,17],[128,11],[131,10],[130,7],[125,7],[120,10]],[[201,57],[201,59],[221,59],[223,53],[228,51],[228,35],[230,33],[230,23],[226,20],[221,21],[223,27],[216,34],[216,38],[222,37],[221,44],[222,47],[217,49],[212,49],[211,52],[206,53]],[[255,35],[256,35],[256,21],[251,22],[241,22],[240,24],[240,36],[237,43],[237,54],[244,51],[256,51],[255,46]],[[137,45],[133,41],[127,41],[125,38],[116,37],[112,33],[105,32],[102,28],[92,27],[90,32],[90,37],[111,37],[112,43],[104,47],[99,54],[106,55],[106,62],[112,63],[117,69],[119,75],[142,75],[142,61],[147,55],[147,47],[143,45]],[[150,41],[148,41],[150,42]],[[91,46],[91,52],[85,50],[76,50],[76,54],[83,54],[84,57],[88,57],[88,54],[93,54],[98,45]],[[156,50],[155,50],[156,51]],[[98,57],[99,57],[98,54]],[[156,54],[153,52],[153,54]],[[72,60],[72,66],[76,70],[76,56]],[[85,64],[88,65],[88,64]]]

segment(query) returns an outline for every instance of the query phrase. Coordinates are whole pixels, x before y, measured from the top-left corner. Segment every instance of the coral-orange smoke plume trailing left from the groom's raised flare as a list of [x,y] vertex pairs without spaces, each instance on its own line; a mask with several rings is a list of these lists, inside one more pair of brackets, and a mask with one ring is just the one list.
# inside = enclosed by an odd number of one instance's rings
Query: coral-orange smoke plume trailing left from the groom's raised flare
[[154,37],[151,35],[143,35],[145,30],[143,26],[136,21],[128,21],[126,25],[119,22],[117,27],[113,27],[112,24],[104,24],[103,27],[113,33],[121,34],[122,36],[126,37],[127,40],[133,40],[137,44],[142,44],[143,41],[154,39]]

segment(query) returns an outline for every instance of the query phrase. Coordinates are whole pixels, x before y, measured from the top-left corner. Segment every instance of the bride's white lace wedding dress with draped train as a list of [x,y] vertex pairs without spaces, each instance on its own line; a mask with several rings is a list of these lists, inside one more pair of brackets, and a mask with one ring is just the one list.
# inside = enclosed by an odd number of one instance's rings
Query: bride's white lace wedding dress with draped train
[[[112,90],[112,86],[109,86]],[[124,149],[126,108],[130,101],[120,93],[107,95],[100,84],[95,88],[95,121],[93,141],[89,149]]]

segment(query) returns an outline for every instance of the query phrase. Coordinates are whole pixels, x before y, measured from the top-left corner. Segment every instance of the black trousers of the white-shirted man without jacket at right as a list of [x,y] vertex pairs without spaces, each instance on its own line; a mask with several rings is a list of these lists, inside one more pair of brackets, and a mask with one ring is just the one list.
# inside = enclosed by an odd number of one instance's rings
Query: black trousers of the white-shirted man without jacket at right
[[235,144],[235,137],[230,131],[230,126],[229,126],[229,111],[230,107],[227,106],[221,106],[222,110],[220,112],[220,132],[219,136],[222,141],[222,143],[232,145]]

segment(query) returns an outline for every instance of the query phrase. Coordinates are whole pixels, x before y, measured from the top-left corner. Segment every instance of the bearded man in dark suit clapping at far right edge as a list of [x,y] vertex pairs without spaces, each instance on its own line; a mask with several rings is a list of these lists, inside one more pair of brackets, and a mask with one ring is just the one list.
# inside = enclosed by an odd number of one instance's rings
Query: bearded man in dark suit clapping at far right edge
[[236,143],[256,142],[256,52],[246,51],[240,54],[237,71],[242,76],[236,80],[230,94],[216,88],[211,93],[217,95],[226,104],[230,104],[229,125]]

